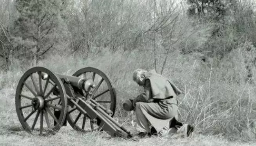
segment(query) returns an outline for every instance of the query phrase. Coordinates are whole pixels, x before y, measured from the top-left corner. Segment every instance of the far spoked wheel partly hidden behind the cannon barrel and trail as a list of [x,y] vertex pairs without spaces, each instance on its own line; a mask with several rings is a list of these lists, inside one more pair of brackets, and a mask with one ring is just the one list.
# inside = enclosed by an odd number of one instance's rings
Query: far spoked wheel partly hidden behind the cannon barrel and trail
[[[91,89],[91,98],[104,108],[111,110],[113,112],[111,117],[113,117],[116,110],[116,93],[109,77],[102,71],[93,67],[82,68],[75,72],[73,76],[84,79],[92,79],[94,81],[94,85],[96,87]],[[85,114],[79,112],[75,106],[68,106],[67,121],[75,130],[78,131],[89,131],[85,130],[87,124],[88,126],[91,126],[91,130],[97,129],[94,127],[95,124],[93,124],[91,119],[89,119],[89,117],[87,117]]]

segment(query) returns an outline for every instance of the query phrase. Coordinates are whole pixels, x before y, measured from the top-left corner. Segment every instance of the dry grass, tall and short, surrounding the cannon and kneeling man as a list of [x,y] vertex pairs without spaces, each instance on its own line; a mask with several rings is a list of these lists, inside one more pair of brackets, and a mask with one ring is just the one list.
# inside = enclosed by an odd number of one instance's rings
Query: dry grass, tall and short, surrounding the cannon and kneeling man
[[[248,47],[248,45],[247,45]],[[222,61],[208,58],[202,62],[202,54],[180,55],[172,52],[167,60],[163,75],[170,78],[184,91],[179,96],[180,121],[196,126],[191,139],[168,139],[153,137],[140,142],[111,139],[102,133],[75,132],[70,126],[53,136],[39,137],[29,135],[22,130],[15,110],[16,85],[22,74],[29,67],[16,67],[12,72],[0,74],[0,145],[253,145],[253,143],[231,142],[228,140],[255,140],[255,84],[246,78],[245,59],[253,56],[245,51],[246,47],[231,52]],[[117,110],[115,118],[126,127],[131,127],[131,118],[122,108],[123,99],[133,98],[142,88],[132,81],[131,73],[136,68],[153,68],[151,55],[140,52],[104,52],[93,59],[80,61],[78,58],[52,56],[43,60],[44,66],[60,74],[72,75],[83,67],[96,67],[105,72],[111,79],[117,92]],[[138,53],[138,54],[137,54]],[[161,58],[161,56],[159,56]],[[147,61],[145,61],[147,60]],[[238,63],[239,62],[239,63]],[[15,65],[14,65],[15,66]],[[252,73],[255,67],[251,66]],[[252,79],[253,80],[253,79]],[[130,128],[133,131],[133,128]],[[210,136],[215,135],[215,136]],[[219,136],[216,136],[219,135]],[[102,138],[103,137],[103,138]]]

